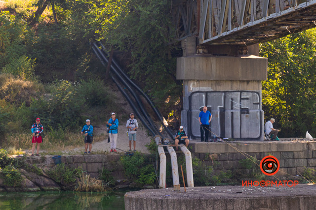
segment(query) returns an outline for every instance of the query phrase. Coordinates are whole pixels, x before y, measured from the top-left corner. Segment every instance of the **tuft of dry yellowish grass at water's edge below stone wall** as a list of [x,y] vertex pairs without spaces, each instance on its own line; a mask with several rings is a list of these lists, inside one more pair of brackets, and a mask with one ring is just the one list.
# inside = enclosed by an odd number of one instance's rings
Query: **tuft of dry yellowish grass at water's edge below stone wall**
[[106,189],[103,186],[101,180],[91,178],[90,175],[82,173],[76,191],[79,192],[105,192]]

